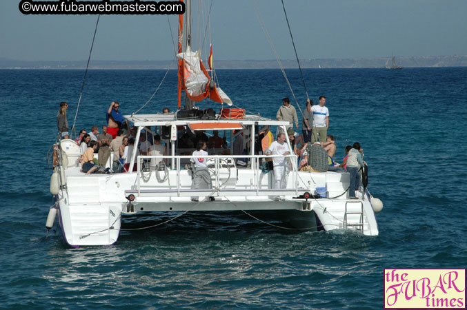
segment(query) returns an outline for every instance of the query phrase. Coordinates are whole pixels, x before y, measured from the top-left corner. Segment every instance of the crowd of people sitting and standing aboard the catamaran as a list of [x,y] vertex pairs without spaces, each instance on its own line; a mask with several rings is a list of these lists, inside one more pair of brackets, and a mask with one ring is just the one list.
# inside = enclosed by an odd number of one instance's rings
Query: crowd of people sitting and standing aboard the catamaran
[[[359,169],[364,166],[363,149],[361,149],[358,142],[352,146],[347,145],[346,156],[343,158],[342,163],[339,164],[335,161],[336,143],[334,136],[328,134],[329,110],[325,104],[325,96],[319,97],[317,105],[314,105],[313,101],[307,99],[301,121],[302,134],[299,134],[294,130],[294,125],[296,130],[299,130],[297,111],[290,104],[290,99],[282,99],[282,105],[277,110],[276,116],[277,120],[288,122],[287,130],[286,132],[282,132],[280,127],[278,127],[276,132],[277,140],[275,141],[270,127],[261,127],[255,141],[255,154],[280,156],[295,154],[299,157],[297,165],[301,171],[347,171],[350,173],[350,197],[353,198],[355,197],[355,190],[359,187]],[[59,137],[63,139],[70,137],[66,118],[67,109],[68,103],[61,102],[57,114]],[[170,110],[165,107],[163,108],[163,113],[170,113]],[[86,172],[86,174],[100,172],[101,167],[105,167],[111,152],[114,154],[112,166],[117,167],[114,169],[114,172],[125,172],[130,168],[137,128],[130,128],[128,121],[126,121],[119,111],[119,103],[117,101],[112,101],[110,104],[106,113],[106,121],[107,125],[101,127],[100,133],[99,127],[92,126],[90,132],[80,130],[79,136],[75,139],[81,149],[82,156],[80,161],[82,171]],[[177,128],[177,131],[179,132],[178,136],[180,136],[177,140],[177,147],[193,149],[196,146],[195,152],[192,153],[194,156],[204,154],[203,152],[206,152],[204,150],[206,147],[210,149],[226,149],[228,147],[226,137],[221,138],[217,131],[214,131],[210,138],[202,130],[192,132],[187,126],[181,126]],[[157,130],[152,131],[150,128],[143,130],[140,135],[139,145],[137,145],[137,155],[167,155],[167,145],[163,145],[161,141],[168,139],[169,133],[169,126],[161,127],[159,134]],[[286,143],[286,136],[288,136],[288,140],[290,141],[290,147]],[[250,140],[244,130],[235,132],[234,140],[232,141],[232,154],[248,154],[249,143]],[[97,162],[93,159],[95,152],[99,154]],[[207,155],[207,152],[204,155]],[[155,167],[157,163],[158,161],[155,158],[148,161],[150,167]],[[239,158],[237,160],[237,165],[240,166],[246,166],[247,163],[246,158]],[[199,178],[197,186],[208,186],[206,169],[204,169],[207,167],[206,163],[192,161],[192,164],[194,168],[193,174]],[[290,170],[290,159],[279,156],[264,158],[264,165],[274,171],[275,187],[286,188],[287,175]],[[206,180],[204,180],[205,178]]]

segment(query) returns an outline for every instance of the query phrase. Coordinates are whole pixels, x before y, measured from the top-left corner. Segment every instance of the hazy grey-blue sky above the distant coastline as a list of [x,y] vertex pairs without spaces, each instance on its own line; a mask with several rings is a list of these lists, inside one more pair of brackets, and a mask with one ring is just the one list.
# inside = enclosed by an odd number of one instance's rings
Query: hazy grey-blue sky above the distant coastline
[[[466,0],[284,0],[300,59],[467,55]],[[255,14],[255,4],[259,16]],[[19,0],[0,1],[0,57],[24,61],[88,59],[97,15],[24,15]],[[195,1],[207,20],[211,0]],[[212,0],[210,28],[195,25],[195,47],[215,59],[295,59],[281,0]],[[172,35],[170,32],[172,29]],[[94,60],[170,60],[174,15],[101,15]]]

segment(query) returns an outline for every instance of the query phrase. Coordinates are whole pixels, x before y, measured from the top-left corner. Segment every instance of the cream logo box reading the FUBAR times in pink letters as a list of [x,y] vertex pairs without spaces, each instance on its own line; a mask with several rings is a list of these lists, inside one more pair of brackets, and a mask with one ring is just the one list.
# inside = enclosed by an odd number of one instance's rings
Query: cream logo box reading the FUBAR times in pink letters
[[466,269],[384,269],[384,309],[467,309]]

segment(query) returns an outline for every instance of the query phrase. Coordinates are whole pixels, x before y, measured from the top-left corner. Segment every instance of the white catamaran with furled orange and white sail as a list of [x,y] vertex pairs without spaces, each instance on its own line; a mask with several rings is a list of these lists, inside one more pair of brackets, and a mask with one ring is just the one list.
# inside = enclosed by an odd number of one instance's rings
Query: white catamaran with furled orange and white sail
[[[46,226],[53,226],[57,214],[63,238],[71,247],[113,245],[128,214],[178,211],[177,216],[190,216],[189,211],[254,211],[261,218],[261,212],[288,210],[305,220],[298,221],[297,229],[348,230],[377,236],[375,213],[382,209],[382,203],[371,196],[366,183],[357,191],[357,199],[350,199],[347,172],[301,171],[296,154],[258,152],[261,127],[287,132],[290,124],[230,107],[232,101],[215,83],[212,70],[204,67],[201,52],[191,50],[190,10],[190,1],[186,1],[185,18],[179,15],[179,109],[175,113],[125,116],[137,128],[125,173],[86,176],[79,165],[77,143],[57,141],[57,165],[50,182],[55,203]],[[185,107],[181,107],[182,94]],[[203,100],[219,103],[219,111],[197,110],[195,104]],[[194,188],[190,162],[196,156],[192,147],[181,143],[181,136],[210,131],[223,132],[226,145],[209,147],[209,154],[203,156],[212,188]],[[141,136],[162,132],[166,155],[137,154]],[[239,136],[246,139],[246,154],[234,152],[233,141]],[[290,147],[287,135],[285,143]],[[265,165],[277,157],[288,161],[286,187],[277,188],[274,171]],[[150,161],[155,165],[146,165]],[[111,156],[110,169],[112,164]]]

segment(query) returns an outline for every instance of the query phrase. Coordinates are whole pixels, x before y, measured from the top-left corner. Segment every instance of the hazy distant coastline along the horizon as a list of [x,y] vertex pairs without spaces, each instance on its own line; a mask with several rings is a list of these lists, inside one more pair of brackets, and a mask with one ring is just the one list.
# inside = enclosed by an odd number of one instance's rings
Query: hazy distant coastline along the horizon
[[[464,56],[401,56],[404,68],[466,67],[467,55]],[[298,68],[295,60],[281,60],[286,69]],[[91,70],[165,70],[171,61],[90,61]],[[373,59],[301,59],[301,68],[386,68],[390,57]],[[0,69],[16,70],[82,70],[86,61],[21,61],[0,57]],[[277,69],[275,60],[215,61],[216,69]],[[172,63],[172,69],[176,69]]]

